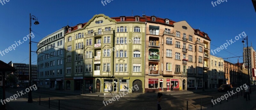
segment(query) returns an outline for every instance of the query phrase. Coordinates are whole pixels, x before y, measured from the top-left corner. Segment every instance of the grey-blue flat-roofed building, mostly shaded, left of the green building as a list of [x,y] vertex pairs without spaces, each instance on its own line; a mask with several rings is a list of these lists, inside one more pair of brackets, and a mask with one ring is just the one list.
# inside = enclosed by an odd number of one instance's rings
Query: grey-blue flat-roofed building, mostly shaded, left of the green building
[[44,37],[37,45],[38,86],[51,90],[64,89],[64,33],[67,27]]

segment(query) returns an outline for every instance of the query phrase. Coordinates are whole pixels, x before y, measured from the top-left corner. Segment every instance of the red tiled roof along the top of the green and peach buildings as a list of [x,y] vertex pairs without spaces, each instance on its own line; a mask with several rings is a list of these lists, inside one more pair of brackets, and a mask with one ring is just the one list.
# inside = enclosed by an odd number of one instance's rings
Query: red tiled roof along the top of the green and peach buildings
[[[122,17],[125,17],[125,16],[122,16]],[[134,17],[125,17],[125,21],[135,21],[135,17],[136,16],[134,16]],[[138,17],[140,17],[140,16],[138,16]],[[152,17],[155,17],[155,16],[152,16]],[[121,21],[120,17],[111,17],[111,19],[115,19],[117,22]],[[156,17],[156,23],[163,23],[163,24],[165,24],[164,20],[165,19],[163,19],[163,18]],[[142,16],[142,17],[140,17],[140,22],[146,22],[146,21],[151,21],[151,16]],[[169,19],[169,24],[173,25],[173,23],[176,23],[176,22]],[[82,27],[84,27],[85,24],[87,24],[87,23],[82,24]],[[74,26],[74,27],[71,27],[71,31],[74,31],[74,30],[77,30],[77,25]],[[196,29],[194,29],[194,31],[196,33]],[[68,33],[68,32],[69,31],[67,31],[66,33]],[[204,37],[204,34],[206,34],[206,33],[202,32],[202,31],[199,32],[199,35],[201,37]],[[206,36],[206,39],[211,41],[211,39],[210,39],[210,37],[208,35]]]

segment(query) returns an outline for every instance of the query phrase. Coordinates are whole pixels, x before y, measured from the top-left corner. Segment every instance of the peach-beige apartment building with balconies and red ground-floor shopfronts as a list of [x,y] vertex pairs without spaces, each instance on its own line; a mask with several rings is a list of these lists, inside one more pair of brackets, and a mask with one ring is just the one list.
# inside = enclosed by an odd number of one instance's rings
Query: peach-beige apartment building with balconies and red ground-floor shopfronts
[[208,35],[186,21],[146,16],[146,23],[145,92],[203,88],[203,72],[209,70]]

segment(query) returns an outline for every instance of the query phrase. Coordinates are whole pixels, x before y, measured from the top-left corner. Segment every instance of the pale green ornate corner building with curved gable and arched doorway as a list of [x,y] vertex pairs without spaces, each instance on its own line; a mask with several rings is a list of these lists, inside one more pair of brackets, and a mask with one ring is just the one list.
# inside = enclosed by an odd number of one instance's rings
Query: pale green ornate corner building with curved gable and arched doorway
[[[145,18],[93,16],[65,33],[65,90],[144,92]],[[131,91],[128,91],[131,92]]]

